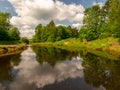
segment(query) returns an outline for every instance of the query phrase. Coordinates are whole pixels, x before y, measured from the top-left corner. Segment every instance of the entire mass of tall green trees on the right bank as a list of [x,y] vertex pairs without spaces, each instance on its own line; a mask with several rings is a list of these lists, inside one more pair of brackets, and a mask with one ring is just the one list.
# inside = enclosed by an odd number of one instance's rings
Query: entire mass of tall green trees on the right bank
[[81,41],[111,36],[120,38],[119,0],[107,0],[101,8],[99,5],[86,8],[84,14],[83,26],[79,31]]

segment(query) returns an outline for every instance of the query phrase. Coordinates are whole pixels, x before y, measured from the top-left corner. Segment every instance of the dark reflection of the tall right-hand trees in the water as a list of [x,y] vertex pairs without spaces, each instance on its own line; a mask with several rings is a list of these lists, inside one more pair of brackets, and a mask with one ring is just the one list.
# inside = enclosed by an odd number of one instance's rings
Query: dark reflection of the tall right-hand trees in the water
[[82,66],[86,83],[94,86],[103,86],[106,90],[119,90],[120,61],[98,57],[91,53],[83,54]]

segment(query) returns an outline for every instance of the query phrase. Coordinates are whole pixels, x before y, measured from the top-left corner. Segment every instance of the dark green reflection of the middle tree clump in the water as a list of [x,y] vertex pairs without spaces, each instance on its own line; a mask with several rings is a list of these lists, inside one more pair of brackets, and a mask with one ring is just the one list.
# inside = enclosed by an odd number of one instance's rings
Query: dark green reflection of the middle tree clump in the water
[[78,56],[78,52],[70,52],[54,47],[36,46],[31,48],[36,53],[36,60],[40,64],[48,62],[51,66],[54,66],[56,62],[71,60],[73,57]]

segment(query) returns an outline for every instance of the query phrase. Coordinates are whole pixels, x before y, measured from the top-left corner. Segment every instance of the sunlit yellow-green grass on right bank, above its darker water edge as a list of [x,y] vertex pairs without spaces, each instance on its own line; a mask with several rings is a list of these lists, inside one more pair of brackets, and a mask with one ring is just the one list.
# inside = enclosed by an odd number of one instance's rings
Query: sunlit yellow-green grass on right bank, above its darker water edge
[[[48,43],[50,44],[50,43]],[[79,39],[71,38],[53,43],[54,46],[66,46],[66,47],[82,47],[97,51],[108,51],[108,52],[120,52],[120,43],[116,38],[105,38],[94,41],[83,41]]]

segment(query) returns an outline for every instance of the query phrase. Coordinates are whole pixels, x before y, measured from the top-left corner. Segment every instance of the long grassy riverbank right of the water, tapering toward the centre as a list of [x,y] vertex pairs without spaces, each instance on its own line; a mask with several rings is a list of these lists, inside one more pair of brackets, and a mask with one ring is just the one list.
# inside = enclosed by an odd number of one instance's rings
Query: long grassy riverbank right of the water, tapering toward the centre
[[71,51],[80,51],[84,50],[92,54],[106,57],[109,59],[120,60],[120,43],[116,38],[105,38],[98,39],[94,41],[83,41],[80,42],[79,39],[70,38],[58,42],[45,42],[45,43],[34,43],[32,45],[41,45],[41,46],[54,46],[61,49],[68,49]]

